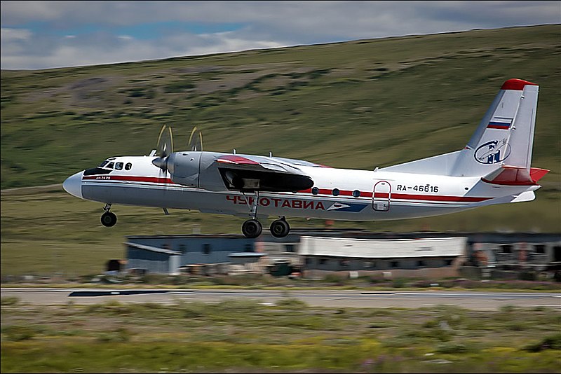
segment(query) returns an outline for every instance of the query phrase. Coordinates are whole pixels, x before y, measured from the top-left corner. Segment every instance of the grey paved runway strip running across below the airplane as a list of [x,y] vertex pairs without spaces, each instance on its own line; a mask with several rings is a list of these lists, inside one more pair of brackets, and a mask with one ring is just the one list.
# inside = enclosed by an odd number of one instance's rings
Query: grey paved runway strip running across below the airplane
[[76,304],[109,300],[121,303],[177,303],[178,300],[218,303],[238,298],[273,304],[280,298],[290,297],[320,307],[428,307],[446,304],[471,310],[498,310],[503,305],[515,305],[553,307],[561,311],[561,293],[2,288],[0,294],[2,298],[15,296],[23,302],[37,305],[66,304],[71,300]]

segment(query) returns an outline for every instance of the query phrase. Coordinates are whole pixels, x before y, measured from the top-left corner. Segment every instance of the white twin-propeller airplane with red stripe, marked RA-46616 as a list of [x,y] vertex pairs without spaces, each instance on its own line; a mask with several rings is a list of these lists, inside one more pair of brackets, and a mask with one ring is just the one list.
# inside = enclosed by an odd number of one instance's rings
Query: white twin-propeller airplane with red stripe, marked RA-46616
[[[262,233],[259,219],[278,216],[271,234],[285,237],[285,216],[346,221],[410,219],[485,205],[534,200],[549,170],[530,167],[538,85],[503,83],[464,149],[374,170],[335,169],[302,160],[202,150],[191,132],[189,151],[173,151],[170,127],[156,150],[119,156],[63,183],[81,199],[105,203],[104,226],[117,218],[111,205],[196,209],[249,216],[243,235]],[[194,129],[195,130],[195,129]],[[196,141],[194,141],[194,139]]]

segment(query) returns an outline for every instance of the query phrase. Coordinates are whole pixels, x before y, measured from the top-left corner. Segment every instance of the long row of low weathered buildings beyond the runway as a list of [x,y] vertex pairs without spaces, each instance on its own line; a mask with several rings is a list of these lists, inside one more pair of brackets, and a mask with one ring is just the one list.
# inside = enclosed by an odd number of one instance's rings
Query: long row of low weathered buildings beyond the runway
[[283,238],[266,231],[257,239],[243,235],[128,236],[126,248],[125,270],[166,274],[198,269],[199,274],[212,275],[228,265],[266,271],[267,265],[286,263],[313,277],[325,272],[349,275],[349,271],[447,277],[459,275],[459,267],[461,275],[470,277],[515,277],[517,272],[553,276],[561,272],[561,234],[555,233],[370,233],[294,228]]

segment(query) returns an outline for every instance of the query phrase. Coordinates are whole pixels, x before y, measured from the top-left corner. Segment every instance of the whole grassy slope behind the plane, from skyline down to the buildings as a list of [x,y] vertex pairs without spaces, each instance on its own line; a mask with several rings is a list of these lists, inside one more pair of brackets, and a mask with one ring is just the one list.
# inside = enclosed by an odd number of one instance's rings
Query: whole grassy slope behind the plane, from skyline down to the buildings
[[[560,25],[476,30],[44,71],[1,71],[1,187],[60,183],[110,155],[147,154],[163,123],[176,148],[374,168],[466,144],[503,81],[540,85],[534,162],[552,172],[534,202],[432,219],[336,223],[373,230],[560,231]],[[124,235],[237,233],[241,219],[101,206],[65,193],[2,193],[5,275],[98,272]],[[150,215],[149,215],[150,214]],[[292,226],[320,226],[293,220]],[[76,254],[79,253],[79,256]],[[61,261],[56,261],[56,259]],[[64,269],[63,269],[64,270]]]

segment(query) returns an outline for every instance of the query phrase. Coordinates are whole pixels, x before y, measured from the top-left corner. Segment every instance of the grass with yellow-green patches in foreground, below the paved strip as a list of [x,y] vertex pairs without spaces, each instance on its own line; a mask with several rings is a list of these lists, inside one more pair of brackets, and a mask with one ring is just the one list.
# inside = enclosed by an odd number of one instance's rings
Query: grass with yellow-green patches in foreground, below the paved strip
[[[9,302],[8,302],[9,301]],[[284,298],[210,305],[2,303],[1,371],[555,373],[548,308],[331,309]]]

